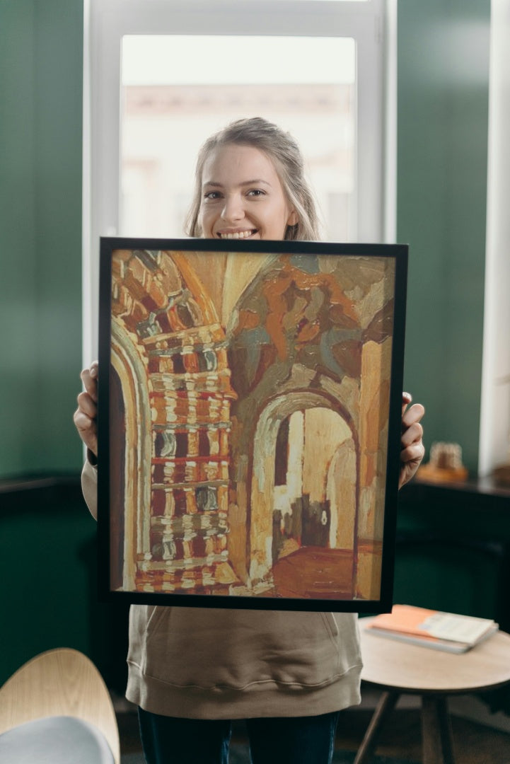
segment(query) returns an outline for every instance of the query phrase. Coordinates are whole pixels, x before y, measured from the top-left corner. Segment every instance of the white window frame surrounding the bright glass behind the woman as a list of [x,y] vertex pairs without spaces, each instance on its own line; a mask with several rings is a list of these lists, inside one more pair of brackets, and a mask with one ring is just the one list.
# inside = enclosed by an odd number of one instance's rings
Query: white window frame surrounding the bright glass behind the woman
[[99,237],[117,235],[125,34],[353,37],[357,241],[395,240],[396,0],[85,0],[83,362],[98,345]]

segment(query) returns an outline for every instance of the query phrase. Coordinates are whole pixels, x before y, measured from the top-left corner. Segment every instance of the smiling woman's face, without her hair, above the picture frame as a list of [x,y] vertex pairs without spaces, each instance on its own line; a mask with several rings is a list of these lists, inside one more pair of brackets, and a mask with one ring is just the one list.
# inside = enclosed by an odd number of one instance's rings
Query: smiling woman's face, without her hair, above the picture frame
[[227,144],[202,171],[199,223],[205,238],[282,239],[298,216],[273,162],[254,146]]

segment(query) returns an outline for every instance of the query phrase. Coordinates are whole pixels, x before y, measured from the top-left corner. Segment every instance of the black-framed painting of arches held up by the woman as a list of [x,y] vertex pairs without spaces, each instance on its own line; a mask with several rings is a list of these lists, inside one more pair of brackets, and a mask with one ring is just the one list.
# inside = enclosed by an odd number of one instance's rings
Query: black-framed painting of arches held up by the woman
[[103,599],[391,609],[406,277],[403,245],[102,239]]

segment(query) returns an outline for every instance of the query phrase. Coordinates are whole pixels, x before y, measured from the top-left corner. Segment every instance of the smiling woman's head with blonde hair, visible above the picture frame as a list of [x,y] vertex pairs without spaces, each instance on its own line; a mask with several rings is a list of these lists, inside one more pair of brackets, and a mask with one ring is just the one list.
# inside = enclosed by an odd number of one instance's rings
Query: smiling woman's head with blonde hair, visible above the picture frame
[[317,213],[294,138],[261,118],[237,120],[208,138],[197,161],[187,232],[317,240]]

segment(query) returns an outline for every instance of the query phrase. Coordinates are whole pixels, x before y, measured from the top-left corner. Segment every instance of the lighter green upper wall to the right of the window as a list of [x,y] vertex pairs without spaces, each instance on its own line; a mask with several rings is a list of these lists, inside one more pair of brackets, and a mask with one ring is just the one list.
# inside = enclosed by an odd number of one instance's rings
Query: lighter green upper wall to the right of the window
[[[489,0],[401,0],[397,238],[408,243],[405,387],[425,445],[476,471],[483,338]],[[427,457],[428,458],[428,457]]]

